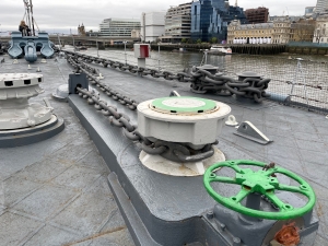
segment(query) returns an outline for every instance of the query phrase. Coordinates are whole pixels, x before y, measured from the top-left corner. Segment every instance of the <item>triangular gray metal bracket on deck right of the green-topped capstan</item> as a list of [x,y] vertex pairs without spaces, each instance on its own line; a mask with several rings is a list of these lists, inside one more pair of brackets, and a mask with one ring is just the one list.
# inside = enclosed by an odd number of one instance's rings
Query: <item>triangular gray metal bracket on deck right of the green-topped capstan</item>
[[255,127],[249,121],[242,122],[234,134],[249,139],[260,144],[268,144],[270,142],[273,142],[272,140],[269,140],[267,136],[265,136],[259,129],[257,129],[257,127]]

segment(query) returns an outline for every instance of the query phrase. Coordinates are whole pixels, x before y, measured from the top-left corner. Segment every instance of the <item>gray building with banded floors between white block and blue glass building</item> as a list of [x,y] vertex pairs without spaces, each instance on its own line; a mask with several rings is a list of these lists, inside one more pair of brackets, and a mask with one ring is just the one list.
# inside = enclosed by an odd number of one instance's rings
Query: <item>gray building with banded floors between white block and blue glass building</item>
[[180,43],[190,38],[191,2],[171,7],[165,14],[165,36],[162,42]]

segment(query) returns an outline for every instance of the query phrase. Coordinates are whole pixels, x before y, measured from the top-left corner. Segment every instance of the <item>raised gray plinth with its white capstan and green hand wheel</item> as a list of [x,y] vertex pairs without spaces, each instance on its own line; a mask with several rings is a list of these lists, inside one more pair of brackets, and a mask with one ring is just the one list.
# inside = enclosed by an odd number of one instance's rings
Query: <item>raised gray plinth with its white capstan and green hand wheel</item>
[[[151,139],[155,147],[160,141],[167,149],[173,148],[171,153],[160,154],[157,161],[151,156],[156,154],[147,157],[142,154],[144,150],[140,154],[140,148],[108,129],[103,116],[94,114],[93,107],[81,102],[79,96],[69,96],[70,105],[112,171],[108,184],[134,243],[313,245],[318,230],[318,220],[313,214],[316,197],[309,184],[294,173],[274,163],[247,160],[218,163],[211,160],[210,167],[206,162],[172,160],[172,155],[179,159],[178,153],[184,148],[197,151],[220,134],[230,107],[213,102],[198,97],[164,97],[139,104],[140,133]],[[222,114],[218,113],[220,110]],[[137,120],[134,114],[129,117],[131,121]],[[215,149],[216,144],[212,147]],[[145,164],[150,159],[156,164]],[[189,168],[195,175],[177,175],[172,172],[173,162],[175,169],[184,173]],[[207,169],[204,174],[203,169]]]

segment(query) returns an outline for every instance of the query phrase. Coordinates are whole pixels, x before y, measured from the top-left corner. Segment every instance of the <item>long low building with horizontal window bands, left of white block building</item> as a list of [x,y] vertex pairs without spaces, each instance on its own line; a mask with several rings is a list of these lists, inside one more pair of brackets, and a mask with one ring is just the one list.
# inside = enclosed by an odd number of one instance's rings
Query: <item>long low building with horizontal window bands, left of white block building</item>
[[105,19],[99,24],[99,36],[131,37],[132,30],[140,30],[139,19]]

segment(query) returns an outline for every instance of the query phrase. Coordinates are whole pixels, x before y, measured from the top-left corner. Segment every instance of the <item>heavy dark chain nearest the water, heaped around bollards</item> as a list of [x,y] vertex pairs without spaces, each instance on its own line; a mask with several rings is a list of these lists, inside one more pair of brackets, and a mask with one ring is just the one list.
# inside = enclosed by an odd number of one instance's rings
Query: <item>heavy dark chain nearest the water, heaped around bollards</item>
[[121,71],[129,71],[131,73],[138,73],[140,75],[152,75],[153,78],[164,78],[165,80],[190,82],[191,91],[195,93],[211,92],[223,96],[231,96],[235,94],[237,96],[251,98],[257,103],[260,103],[263,101],[263,98],[270,96],[265,91],[268,89],[270,79],[246,78],[239,81],[231,77],[223,75],[222,73],[212,74],[204,69],[196,67],[192,67],[190,74],[186,72],[178,72],[177,74],[174,74],[169,71],[138,68],[138,66],[113,61],[109,59],[74,54],[71,51],[66,52],[80,57],[85,62],[95,62],[97,65],[102,63],[105,68],[110,66],[112,68],[119,69]]

